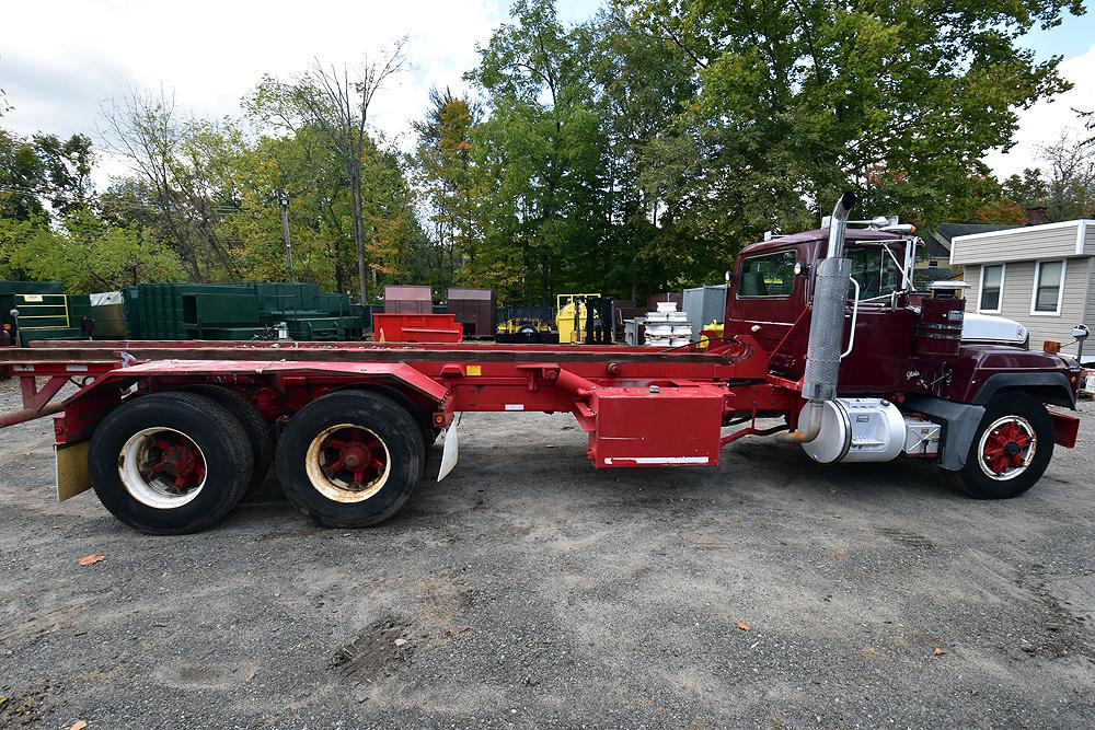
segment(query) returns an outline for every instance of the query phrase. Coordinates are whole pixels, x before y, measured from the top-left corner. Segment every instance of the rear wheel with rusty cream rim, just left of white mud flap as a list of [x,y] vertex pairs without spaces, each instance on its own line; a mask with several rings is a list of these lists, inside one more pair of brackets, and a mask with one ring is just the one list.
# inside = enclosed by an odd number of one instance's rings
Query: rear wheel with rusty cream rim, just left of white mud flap
[[426,447],[419,422],[368,391],[325,395],[292,417],[276,467],[286,496],[328,528],[383,522],[411,497]]

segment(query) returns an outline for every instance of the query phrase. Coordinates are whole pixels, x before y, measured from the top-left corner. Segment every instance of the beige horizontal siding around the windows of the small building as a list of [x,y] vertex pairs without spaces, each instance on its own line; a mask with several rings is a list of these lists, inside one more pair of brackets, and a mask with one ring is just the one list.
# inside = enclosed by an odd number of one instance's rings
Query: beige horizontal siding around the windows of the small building
[[[1073,234],[1074,232],[1075,229],[1073,229]],[[1073,251],[1075,251],[1075,239],[1073,239],[1072,245]],[[1088,300],[1095,297],[1092,293],[1092,258],[1090,256],[1072,257],[1067,260],[1064,296],[1061,298],[1061,314],[1059,316],[1030,314],[1035,262],[1008,262],[1006,264],[999,316],[1023,323],[1030,331],[1031,349],[1040,350],[1041,344],[1047,339],[1068,343],[1072,339],[1072,327],[1083,322],[1085,311],[1095,312],[1095,309],[1091,309],[1088,305]],[[966,283],[970,285],[970,288],[966,290],[966,311],[976,312],[980,302],[981,267],[967,266],[965,280]]]

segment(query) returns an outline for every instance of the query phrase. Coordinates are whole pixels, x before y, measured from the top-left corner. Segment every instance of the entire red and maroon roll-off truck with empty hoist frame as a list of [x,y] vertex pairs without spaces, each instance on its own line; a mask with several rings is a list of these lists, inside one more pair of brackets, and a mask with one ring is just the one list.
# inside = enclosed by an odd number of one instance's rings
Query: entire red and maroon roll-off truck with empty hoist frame
[[319,523],[379,523],[441,431],[452,468],[462,412],[570,413],[597,467],[715,466],[779,434],[821,463],[929,459],[973,497],[1029,489],[1075,443],[1079,366],[960,341],[960,299],[912,303],[915,239],[846,228],[853,202],[747,246],[703,348],[42,341],[0,352],[24,406],[0,426],[53,414],[59,497],[94,488],[155,534],[214,524],[270,464]]

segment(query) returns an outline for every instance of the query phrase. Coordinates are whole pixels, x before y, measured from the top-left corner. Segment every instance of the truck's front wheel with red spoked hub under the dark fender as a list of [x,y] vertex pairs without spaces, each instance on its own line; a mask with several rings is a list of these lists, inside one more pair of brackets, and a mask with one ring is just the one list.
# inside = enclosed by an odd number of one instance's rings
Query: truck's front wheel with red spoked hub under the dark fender
[[1033,487],[1053,455],[1053,419],[1026,393],[991,399],[966,456],[950,472],[959,489],[976,499],[1011,499]]

